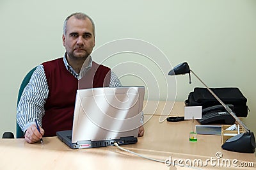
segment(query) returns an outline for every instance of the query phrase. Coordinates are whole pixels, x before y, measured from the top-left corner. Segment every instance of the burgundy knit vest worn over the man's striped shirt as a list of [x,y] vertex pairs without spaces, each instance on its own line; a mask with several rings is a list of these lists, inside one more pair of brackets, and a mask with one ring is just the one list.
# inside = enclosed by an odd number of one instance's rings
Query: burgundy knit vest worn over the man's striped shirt
[[68,72],[63,58],[42,64],[49,87],[49,95],[44,105],[42,120],[44,136],[54,136],[57,131],[71,130],[74,116],[76,91],[81,88],[100,88],[109,86],[110,68],[92,63],[92,68],[78,81]]

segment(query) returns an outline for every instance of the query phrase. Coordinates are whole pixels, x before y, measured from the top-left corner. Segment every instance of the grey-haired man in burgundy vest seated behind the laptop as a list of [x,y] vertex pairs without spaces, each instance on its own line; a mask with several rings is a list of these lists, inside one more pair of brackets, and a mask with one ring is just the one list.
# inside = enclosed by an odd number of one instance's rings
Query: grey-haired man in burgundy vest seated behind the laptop
[[[63,58],[47,61],[36,68],[17,107],[17,122],[28,143],[36,143],[43,135],[52,136],[59,130],[72,129],[76,90],[84,77],[87,76],[86,82],[91,81],[83,88],[122,86],[110,68],[92,61],[95,26],[88,15],[73,13],[68,16],[62,40],[66,49]],[[35,120],[40,125],[40,132]],[[140,127],[138,135],[143,133],[144,128]]]

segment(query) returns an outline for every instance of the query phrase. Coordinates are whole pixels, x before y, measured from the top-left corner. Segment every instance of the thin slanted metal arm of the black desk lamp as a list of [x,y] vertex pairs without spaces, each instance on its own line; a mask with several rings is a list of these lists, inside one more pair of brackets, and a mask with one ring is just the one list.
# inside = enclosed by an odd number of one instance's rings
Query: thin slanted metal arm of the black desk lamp
[[223,107],[226,109],[226,111],[231,114],[231,116],[233,116],[233,118],[239,123],[239,125],[241,125],[245,130],[246,132],[250,133],[250,130],[248,127],[246,127],[246,125],[244,125],[243,121],[239,120],[239,118],[237,118],[236,114],[234,114],[234,112],[232,111],[232,109],[230,109],[230,107],[228,107],[228,105],[225,105],[221,100],[220,98],[215,95],[215,93],[213,93],[213,91],[196,75],[195,72],[193,72],[192,70],[190,70],[190,72],[193,73],[193,75],[195,75],[195,77],[200,81],[202,82],[202,84],[204,84],[204,86],[208,89],[208,91],[210,91],[210,93],[218,100],[218,102],[220,102],[221,105],[223,105]]

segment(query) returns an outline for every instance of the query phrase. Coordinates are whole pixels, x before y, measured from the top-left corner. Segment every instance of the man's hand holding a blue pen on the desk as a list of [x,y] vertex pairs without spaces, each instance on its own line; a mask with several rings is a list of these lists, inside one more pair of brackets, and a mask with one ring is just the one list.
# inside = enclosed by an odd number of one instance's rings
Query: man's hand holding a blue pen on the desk
[[27,143],[36,143],[37,141],[40,141],[40,139],[42,139],[43,135],[44,135],[44,129],[40,128],[40,132],[38,132],[36,125],[31,125],[25,133],[25,141],[27,141]]

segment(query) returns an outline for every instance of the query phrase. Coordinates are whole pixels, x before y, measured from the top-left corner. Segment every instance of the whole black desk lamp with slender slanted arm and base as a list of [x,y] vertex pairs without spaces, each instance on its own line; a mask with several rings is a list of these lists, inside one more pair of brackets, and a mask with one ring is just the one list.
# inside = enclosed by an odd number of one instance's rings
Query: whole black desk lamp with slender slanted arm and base
[[210,88],[192,71],[189,69],[188,63],[184,62],[181,63],[173,68],[168,75],[180,75],[180,74],[186,74],[189,73],[189,84],[191,84],[191,76],[190,72],[195,75],[195,77],[204,84],[204,86],[210,91],[210,93],[225,107],[227,112],[233,116],[233,118],[236,119],[236,121],[241,125],[246,132],[243,134],[237,134],[234,137],[231,137],[228,139],[222,146],[223,150],[229,150],[229,151],[236,151],[236,152],[242,152],[242,153],[254,153],[255,152],[255,137],[253,132],[251,132],[244,123],[237,118],[236,114],[228,107],[228,105],[225,105],[219,97],[217,97]]

